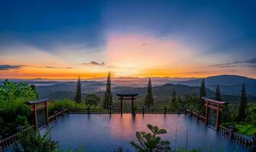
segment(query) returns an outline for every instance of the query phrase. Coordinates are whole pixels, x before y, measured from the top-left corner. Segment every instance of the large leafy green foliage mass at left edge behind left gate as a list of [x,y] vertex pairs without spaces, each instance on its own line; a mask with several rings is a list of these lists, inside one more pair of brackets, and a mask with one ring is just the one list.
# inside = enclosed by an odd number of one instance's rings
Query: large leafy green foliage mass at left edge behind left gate
[[36,99],[31,85],[5,80],[0,87],[0,135],[6,138],[15,134],[18,126],[28,126],[31,110],[25,102]]

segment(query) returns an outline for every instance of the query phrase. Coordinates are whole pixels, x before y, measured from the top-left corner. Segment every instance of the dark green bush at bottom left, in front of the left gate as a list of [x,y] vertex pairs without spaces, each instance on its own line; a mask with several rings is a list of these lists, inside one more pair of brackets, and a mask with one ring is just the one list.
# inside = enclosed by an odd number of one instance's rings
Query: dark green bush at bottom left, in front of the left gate
[[18,141],[14,144],[15,152],[53,152],[58,150],[58,148],[58,142],[51,139],[48,131],[41,135],[38,131],[31,129],[18,135]]

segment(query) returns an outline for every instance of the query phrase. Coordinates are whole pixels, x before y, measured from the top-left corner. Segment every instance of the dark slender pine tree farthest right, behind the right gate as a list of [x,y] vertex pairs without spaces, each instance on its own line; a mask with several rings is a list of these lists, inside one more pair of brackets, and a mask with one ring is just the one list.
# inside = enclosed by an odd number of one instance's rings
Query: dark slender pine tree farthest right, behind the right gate
[[247,106],[247,95],[245,90],[245,83],[241,86],[240,105],[238,109],[238,122],[245,121],[245,108]]

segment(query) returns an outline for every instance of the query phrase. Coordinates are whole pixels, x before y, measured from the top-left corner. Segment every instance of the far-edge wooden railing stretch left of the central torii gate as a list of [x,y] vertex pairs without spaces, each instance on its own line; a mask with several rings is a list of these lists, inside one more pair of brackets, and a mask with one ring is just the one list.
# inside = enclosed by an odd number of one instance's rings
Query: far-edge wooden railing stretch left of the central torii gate
[[69,109],[70,114],[120,114],[120,109]]

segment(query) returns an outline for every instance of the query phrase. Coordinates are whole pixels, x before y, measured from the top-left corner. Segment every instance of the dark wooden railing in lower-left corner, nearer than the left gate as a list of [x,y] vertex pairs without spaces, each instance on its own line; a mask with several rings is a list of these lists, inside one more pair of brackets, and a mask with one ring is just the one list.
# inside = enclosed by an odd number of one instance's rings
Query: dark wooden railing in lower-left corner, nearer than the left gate
[[[23,131],[28,131],[29,129],[34,129],[35,125],[31,125],[28,128],[25,128]],[[22,131],[21,131],[22,132]],[[18,135],[21,134],[21,132],[16,133],[15,135],[11,135],[8,138],[5,138],[0,141],[0,151],[4,150],[5,148],[11,146],[11,144],[14,144],[15,141],[18,138]]]

